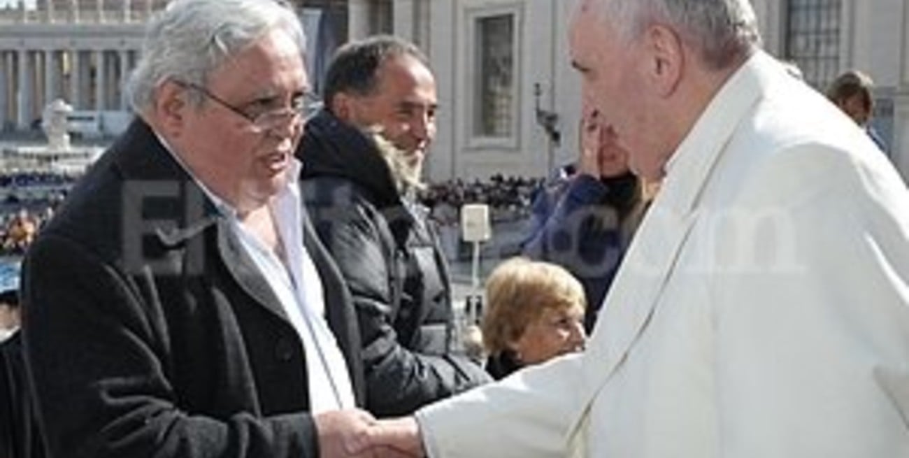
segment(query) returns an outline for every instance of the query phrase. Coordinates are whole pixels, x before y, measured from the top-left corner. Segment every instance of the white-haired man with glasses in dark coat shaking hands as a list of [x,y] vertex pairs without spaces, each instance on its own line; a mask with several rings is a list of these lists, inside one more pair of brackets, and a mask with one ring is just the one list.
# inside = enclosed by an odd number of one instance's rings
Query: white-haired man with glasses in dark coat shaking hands
[[149,25],[138,119],[25,259],[52,456],[342,457],[373,422],[350,296],[295,174],[303,43],[262,0],[176,0]]

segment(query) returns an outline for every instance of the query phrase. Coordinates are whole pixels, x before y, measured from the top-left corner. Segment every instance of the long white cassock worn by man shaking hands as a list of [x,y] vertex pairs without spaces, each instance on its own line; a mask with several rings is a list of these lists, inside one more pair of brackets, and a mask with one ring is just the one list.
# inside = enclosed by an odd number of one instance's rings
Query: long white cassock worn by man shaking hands
[[756,53],[670,164],[583,355],[417,413],[433,458],[909,457],[909,193]]

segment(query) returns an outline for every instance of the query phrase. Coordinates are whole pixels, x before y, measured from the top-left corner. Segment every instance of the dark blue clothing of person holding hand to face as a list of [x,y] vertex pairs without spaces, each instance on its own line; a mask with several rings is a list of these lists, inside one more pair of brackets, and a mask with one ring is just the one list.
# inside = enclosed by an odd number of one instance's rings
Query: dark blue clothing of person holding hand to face
[[547,185],[534,198],[524,255],[559,264],[584,285],[588,333],[630,239],[623,221],[637,196],[633,174],[606,179],[575,174]]

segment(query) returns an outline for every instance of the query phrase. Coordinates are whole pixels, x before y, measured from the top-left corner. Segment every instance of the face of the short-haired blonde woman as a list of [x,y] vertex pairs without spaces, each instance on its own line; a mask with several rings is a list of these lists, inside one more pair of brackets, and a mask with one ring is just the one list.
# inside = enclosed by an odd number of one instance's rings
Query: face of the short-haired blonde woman
[[521,363],[530,365],[564,353],[584,350],[584,307],[547,307],[540,316],[527,324],[524,334],[514,343],[512,351]]

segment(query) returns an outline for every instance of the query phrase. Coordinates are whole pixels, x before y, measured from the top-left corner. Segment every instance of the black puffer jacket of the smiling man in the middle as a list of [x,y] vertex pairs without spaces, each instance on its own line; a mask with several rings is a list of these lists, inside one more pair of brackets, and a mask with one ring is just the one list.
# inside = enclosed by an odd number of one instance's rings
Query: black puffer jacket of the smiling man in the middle
[[354,296],[366,407],[403,415],[487,382],[454,347],[445,258],[425,210],[405,201],[372,139],[322,112],[297,153],[316,232]]

